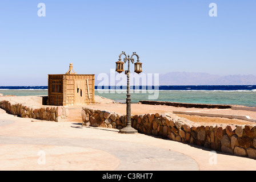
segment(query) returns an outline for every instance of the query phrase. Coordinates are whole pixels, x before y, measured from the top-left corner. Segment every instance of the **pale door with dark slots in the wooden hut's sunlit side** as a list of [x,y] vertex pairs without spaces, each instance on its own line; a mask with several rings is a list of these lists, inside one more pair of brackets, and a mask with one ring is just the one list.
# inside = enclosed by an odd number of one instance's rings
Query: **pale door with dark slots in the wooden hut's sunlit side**
[[84,105],[87,94],[86,80],[75,80],[75,105]]

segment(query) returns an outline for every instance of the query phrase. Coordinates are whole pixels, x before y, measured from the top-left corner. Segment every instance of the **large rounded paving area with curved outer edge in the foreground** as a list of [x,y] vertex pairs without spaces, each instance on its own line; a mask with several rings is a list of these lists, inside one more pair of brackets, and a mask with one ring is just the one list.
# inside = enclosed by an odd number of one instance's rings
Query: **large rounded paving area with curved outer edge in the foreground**
[[[162,148],[151,147],[145,144],[131,143],[131,142],[120,142],[113,140],[100,140],[100,139],[71,139],[71,138],[28,138],[28,137],[0,137],[0,146],[11,146],[11,150],[7,147],[1,147],[1,153],[11,152],[15,156],[14,159],[21,158],[25,161],[26,158],[35,158],[31,165],[23,164],[19,162],[18,168],[13,166],[14,169],[78,169],[78,170],[118,170],[118,171],[185,171],[185,170],[198,170],[198,164],[194,159],[187,155],[183,155],[179,152],[174,152],[170,150],[165,150]],[[15,147],[16,146],[16,147]],[[22,147],[21,147],[22,146]],[[27,147],[25,147],[27,146]],[[32,147],[31,147],[32,146]],[[59,151],[55,151],[55,159],[57,164],[47,164],[48,161],[53,163],[51,160],[46,160],[46,166],[43,168],[42,165],[37,164],[36,156],[38,151],[45,151],[46,159],[47,156],[51,156],[51,151],[44,149],[34,149],[31,154],[23,155],[23,152],[19,152],[21,148],[38,148],[39,146],[51,146],[59,147]],[[67,148],[69,147],[69,148]],[[79,148],[78,148],[79,147]],[[67,149],[68,150],[67,150]],[[81,150],[80,148],[84,149]],[[76,150],[77,151],[76,151]],[[65,151],[67,150],[67,151]],[[22,150],[24,151],[24,150]],[[32,150],[33,151],[33,150]],[[0,154],[1,154],[0,153]],[[75,156],[77,154],[77,156]],[[98,154],[98,155],[96,155]],[[95,158],[97,156],[97,158]],[[37,158],[36,158],[37,157]],[[78,162],[75,157],[81,159]],[[59,159],[58,159],[59,158]],[[66,158],[63,160],[63,158]],[[5,155],[0,155],[0,169],[6,169],[6,166],[10,166],[9,161],[6,159]],[[10,160],[17,163],[16,160],[10,158]],[[64,167],[69,161],[70,164],[78,163],[78,166],[70,165],[69,168]],[[114,164],[115,168],[107,164]],[[84,163],[82,165],[81,163]],[[118,166],[116,165],[118,163]],[[184,165],[186,163],[186,165]],[[90,164],[90,165],[89,165]],[[21,168],[23,166],[23,168]],[[50,167],[51,166],[51,167]],[[97,166],[97,167],[95,167]],[[10,169],[10,168],[7,168]]]

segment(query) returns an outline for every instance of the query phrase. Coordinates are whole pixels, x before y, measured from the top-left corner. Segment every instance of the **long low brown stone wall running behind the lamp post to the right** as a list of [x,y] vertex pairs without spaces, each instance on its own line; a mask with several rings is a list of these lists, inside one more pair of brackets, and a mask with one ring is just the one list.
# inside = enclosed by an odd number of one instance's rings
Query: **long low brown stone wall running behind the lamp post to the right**
[[[126,116],[110,111],[82,110],[82,125],[122,129]],[[211,150],[256,158],[256,125],[202,126],[177,115],[140,114],[131,116],[131,126],[139,133],[155,135],[177,142],[196,144]]]

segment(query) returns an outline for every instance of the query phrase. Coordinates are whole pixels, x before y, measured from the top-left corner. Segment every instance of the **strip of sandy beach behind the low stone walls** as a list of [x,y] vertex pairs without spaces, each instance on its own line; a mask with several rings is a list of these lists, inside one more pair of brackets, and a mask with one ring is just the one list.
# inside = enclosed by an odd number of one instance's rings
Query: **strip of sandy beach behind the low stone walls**
[[[42,107],[42,96],[19,96],[19,97],[0,97],[1,100],[8,100],[10,102],[19,102],[29,106]],[[126,114],[126,104],[115,103],[113,100],[103,98],[101,96],[95,96],[95,104],[85,106],[69,106],[69,121],[70,122],[82,122],[81,110],[82,107],[91,107],[99,110],[114,111],[119,114]],[[198,109],[198,108],[185,108],[185,107],[173,107],[165,105],[145,105],[145,104],[131,104],[131,114],[147,114],[147,113],[161,113],[172,114],[173,111],[197,111],[201,113],[213,113],[213,114],[234,114],[234,115],[247,115],[251,119],[256,119],[255,111],[246,110],[232,110],[232,109]],[[194,115],[177,114],[179,117],[184,117],[190,121],[201,123],[202,125],[212,124],[232,124],[232,125],[247,125],[256,124],[253,122],[245,121],[242,119],[228,119],[219,117],[200,117]]]

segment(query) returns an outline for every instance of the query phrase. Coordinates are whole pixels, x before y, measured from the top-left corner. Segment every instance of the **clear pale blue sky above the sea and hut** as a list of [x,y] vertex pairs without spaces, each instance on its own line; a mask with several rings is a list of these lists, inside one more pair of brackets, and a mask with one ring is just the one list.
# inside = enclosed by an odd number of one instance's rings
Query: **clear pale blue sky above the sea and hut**
[[1,0],[0,85],[47,85],[69,63],[109,73],[122,51],[137,52],[146,73],[256,75],[255,9],[253,0]]

